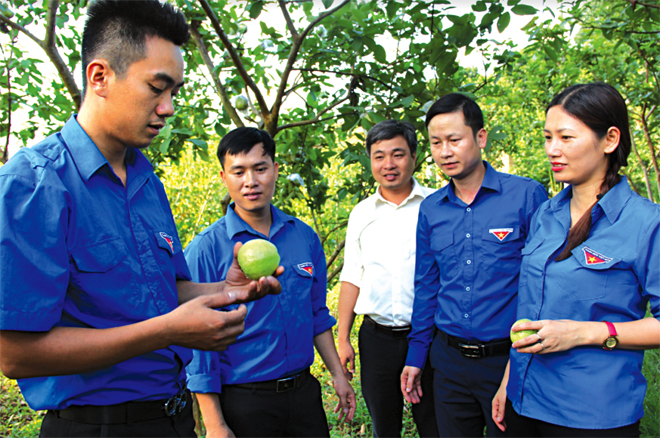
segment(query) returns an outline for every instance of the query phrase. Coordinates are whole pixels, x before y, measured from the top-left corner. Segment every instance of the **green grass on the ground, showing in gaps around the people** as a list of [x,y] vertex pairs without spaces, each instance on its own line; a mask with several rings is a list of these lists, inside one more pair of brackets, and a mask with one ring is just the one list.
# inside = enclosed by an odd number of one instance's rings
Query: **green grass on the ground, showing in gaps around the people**
[[[328,294],[328,307],[336,313],[338,299],[338,287]],[[334,309],[334,310],[333,310]],[[359,320],[353,327],[351,339],[357,350],[357,329]],[[357,409],[355,417],[350,423],[337,421],[334,408],[337,405],[337,397],[330,382],[330,373],[323,366],[321,359],[316,357],[312,366],[312,373],[321,382],[325,411],[328,416],[330,436],[332,438],[342,437],[371,437],[371,418],[360,390],[359,361],[356,366],[356,375],[353,378],[353,388],[357,397]],[[644,376],[648,381],[648,389],[644,400],[644,418],[641,423],[642,437],[660,437],[660,350],[648,350],[644,357]],[[9,380],[0,374],[0,437],[24,438],[39,435],[39,427],[43,412],[35,412],[29,408],[14,380]],[[417,431],[412,420],[410,409],[404,412],[403,432],[404,437],[417,437]]]

